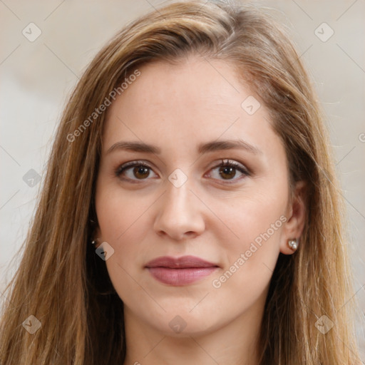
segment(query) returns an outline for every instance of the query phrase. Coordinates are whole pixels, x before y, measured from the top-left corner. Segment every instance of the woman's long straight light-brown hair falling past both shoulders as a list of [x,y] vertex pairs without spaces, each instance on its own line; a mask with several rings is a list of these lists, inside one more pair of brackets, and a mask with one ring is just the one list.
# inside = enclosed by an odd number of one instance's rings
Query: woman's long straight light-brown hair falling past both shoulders
[[[359,361],[343,205],[324,118],[302,61],[267,11],[240,3],[191,1],[169,4],[126,26],[97,54],[73,91],[24,255],[6,287],[2,365],[123,364],[123,302],[105,262],[90,245],[97,225],[93,202],[106,119],[106,113],[93,113],[138,66],[178,62],[191,53],[227,61],[250,83],[282,138],[292,184],[304,180],[308,186],[299,249],[295,255],[279,255],[270,283],[259,364]],[[34,334],[22,326],[31,315],[41,322]],[[326,334],[316,327],[324,315],[334,324]]]

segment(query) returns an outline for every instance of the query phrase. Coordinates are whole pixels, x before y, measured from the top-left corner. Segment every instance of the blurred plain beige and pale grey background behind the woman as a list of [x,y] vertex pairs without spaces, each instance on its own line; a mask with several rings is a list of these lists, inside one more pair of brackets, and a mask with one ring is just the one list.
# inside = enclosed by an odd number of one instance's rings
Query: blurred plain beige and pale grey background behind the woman
[[[30,187],[24,175],[30,169],[43,174],[66,98],[98,49],[128,21],[159,4],[163,1],[0,0],[0,300],[5,300],[2,289],[19,263],[14,255],[41,185]],[[361,306],[357,332],[365,361],[365,1],[257,4],[277,9],[277,16],[292,29],[327,113],[349,215]],[[31,22],[41,30],[33,42],[22,34]],[[334,31],[325,42],[315,34],[323,22]],[[322,26],[319,31],[323,38],[331,30]]]

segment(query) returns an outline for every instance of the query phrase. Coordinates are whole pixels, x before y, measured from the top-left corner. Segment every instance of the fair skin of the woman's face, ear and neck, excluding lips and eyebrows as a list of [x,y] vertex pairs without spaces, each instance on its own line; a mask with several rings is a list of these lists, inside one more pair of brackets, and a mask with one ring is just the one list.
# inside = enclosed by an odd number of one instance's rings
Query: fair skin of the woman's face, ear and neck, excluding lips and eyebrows
[[[178,65],[159,61],[139,70],[108,109],[96,186],[96,237],[113,247],[106,266],[125,309],[124,365],[255,365],[272,270],[279,252],[292,255],[287,241],[303,230],[304,184],[297,183],[291,199],[282,141],[263,103],[253,115],[241,107],[247,96],[260,99],[231,65],[190,56]],[[197,153],[200,143],[239,138],[260,152]],[[161,153],[107,153],[119,141],[143,141]],[[219,167],[222,159],[250,175],[227,172]],[[150,170],[143,175],[132,167],[115,176],[120,165],[135,160]],[[168,180],[176,168],[187,177],[180,187]],[[287,221],[213,287],[283,215]],[[219,268],[192,284],[163,284],[145,264],[165,255],[194,255]],[[186,325],[180,333],[169,326],[176,316]]]

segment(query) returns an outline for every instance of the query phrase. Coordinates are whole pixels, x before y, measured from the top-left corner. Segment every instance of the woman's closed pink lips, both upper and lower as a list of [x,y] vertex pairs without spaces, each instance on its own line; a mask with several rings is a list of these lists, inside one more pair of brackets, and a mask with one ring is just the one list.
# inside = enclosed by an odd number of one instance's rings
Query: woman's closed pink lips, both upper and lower
[[145,266],[159,282],[170,285],[185,285],[196,282],[214,272],[218,266],[199,257],[158,257]]

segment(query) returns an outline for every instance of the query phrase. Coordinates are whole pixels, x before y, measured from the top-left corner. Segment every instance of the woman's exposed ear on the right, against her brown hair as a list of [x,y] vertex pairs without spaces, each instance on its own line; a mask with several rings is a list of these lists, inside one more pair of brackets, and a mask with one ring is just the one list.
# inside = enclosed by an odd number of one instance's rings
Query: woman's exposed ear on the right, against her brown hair
[[307,184],[304,181],[297,182],[288,203],[287,222],[284,223],[280,241],[280,252],[284,255],[292,255],[294,253],[288,246],[288,240],[299,239],[302,235],[307,212],[306,197]]

